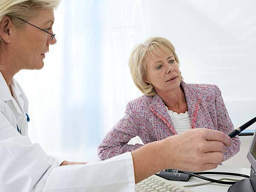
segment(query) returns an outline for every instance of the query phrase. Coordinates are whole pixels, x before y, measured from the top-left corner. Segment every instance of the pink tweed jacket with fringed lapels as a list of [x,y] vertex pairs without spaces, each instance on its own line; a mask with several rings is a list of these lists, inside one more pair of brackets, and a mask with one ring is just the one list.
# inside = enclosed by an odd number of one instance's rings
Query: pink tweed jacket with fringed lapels
[[[212,84],[186,84],[183,87],[192,128],[207,128],[229,134],[234,126],[227,113],[221,91]],[[125,116],[109,131],[98,146],[98,157],[105,160],[140,148],[141,144],[128,145],[139,136],[144,144],[177,134],[163,100],[154,96],[141,96],[128,103]],[[224,160],[239,152],[240,140],[227,147]]]

